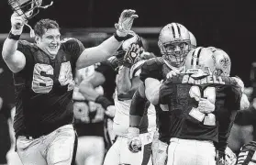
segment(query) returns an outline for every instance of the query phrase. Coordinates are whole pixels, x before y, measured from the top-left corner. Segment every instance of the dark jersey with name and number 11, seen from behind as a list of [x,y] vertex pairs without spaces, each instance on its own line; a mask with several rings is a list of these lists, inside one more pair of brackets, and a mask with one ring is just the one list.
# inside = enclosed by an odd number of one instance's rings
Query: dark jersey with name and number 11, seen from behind
[[[180,74],[161,85],[160,104],[167,104],[169,136],[185,139],[211,140],[218,142],[218,131],[230,126],[231,114],[239,110],[241,90],[237,82],[230,77],[209,75],[193,78],[189,74]],[[215,103],[216,109],[210,114],[198,109],[200,98]]]

